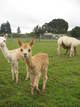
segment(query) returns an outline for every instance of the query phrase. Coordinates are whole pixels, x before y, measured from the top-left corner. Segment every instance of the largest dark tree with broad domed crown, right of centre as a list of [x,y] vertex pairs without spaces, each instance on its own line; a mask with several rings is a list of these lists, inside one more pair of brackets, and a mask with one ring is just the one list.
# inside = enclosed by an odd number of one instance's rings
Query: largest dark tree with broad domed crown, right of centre
[[42,28],[51,33],[67,33],[68,23],[63,19],[53,19],[49,23],[45,23]]

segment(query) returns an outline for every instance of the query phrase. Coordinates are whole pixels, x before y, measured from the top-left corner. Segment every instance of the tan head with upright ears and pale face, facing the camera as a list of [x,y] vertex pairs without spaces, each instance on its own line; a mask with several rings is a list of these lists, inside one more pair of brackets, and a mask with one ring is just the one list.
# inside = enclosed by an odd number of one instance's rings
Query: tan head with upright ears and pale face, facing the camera
[[18,44],[19,44],[19,51],[20,51],[20,55],[24,58],[30,58],[32,56],[32,46],[34,44],[34,39],[32,39],[31,42],[28,43],[22,43],[19,39],[18,39]]

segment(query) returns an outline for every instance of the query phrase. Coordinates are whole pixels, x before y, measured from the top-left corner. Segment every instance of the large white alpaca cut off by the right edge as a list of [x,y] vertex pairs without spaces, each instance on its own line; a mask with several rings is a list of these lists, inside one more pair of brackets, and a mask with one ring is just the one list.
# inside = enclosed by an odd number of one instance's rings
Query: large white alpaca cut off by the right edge
[[77,45],[80,44],[80,40],[73,38],[73,37],[68,37],[68,36],[63,36],[58,39],[58,55],[61,54],[61,48],[67,49],[67,53],[70,56],[74,56],[77,53],[76,47]]

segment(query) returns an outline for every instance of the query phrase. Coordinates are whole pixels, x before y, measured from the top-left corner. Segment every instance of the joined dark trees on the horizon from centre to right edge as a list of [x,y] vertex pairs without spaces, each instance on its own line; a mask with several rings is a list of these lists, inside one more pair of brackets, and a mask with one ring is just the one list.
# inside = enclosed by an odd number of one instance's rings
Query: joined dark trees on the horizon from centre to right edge
[[64,19],[53,19],[42,26],[37,25],[34,27],[33,33],[37,36],[40,36],[45,32],[50,32],[54,34],[68,34],[73,37],[80,37],[80,26],[74,27],[71,31],[68,31],[68,28],[69,24]]

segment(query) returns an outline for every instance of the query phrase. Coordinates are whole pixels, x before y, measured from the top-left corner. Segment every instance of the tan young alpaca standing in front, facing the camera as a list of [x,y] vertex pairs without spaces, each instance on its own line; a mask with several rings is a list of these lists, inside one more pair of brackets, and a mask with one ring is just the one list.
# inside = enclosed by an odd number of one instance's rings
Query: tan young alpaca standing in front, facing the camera
[[43,76],[42,90],[44,91],[47,81],[48,54],[38,53],[32,56],[32,46],[34,44],[34,40],[27,43],[26,45],[23,45],[21,41],[18,41],[18,44],[22,57],[24,58],[25,63],[28,67],[28,74],[30,75],[31,81],[31,95],[34,94],[34,88],[36,88],[37,92],[40,92],[38,84],[41,74]]

